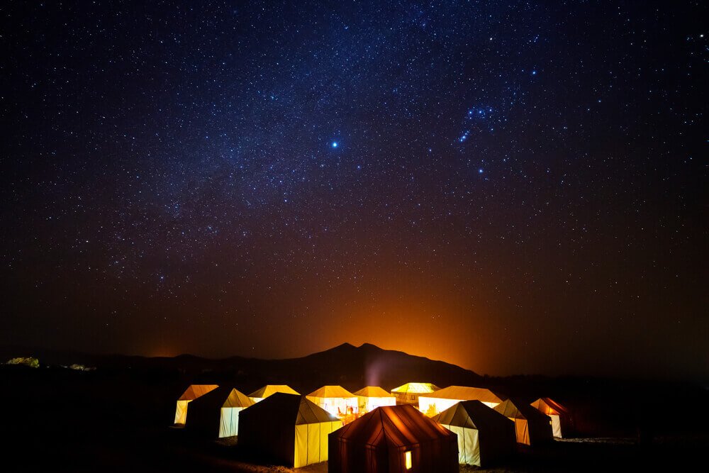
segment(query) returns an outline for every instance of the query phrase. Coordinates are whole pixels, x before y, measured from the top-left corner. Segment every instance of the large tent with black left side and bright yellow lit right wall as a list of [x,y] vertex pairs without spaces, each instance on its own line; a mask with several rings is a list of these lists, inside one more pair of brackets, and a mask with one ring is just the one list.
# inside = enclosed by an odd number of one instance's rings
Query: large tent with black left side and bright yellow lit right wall
[[239,445],[286,467],[328,460],[328,434],[342,421],[304,396],[276,393],[239,416]]

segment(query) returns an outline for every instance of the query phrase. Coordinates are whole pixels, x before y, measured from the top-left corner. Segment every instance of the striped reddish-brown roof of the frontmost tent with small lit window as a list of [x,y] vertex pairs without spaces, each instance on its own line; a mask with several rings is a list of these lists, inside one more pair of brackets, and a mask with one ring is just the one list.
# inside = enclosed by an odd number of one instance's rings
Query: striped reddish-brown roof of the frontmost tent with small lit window
[[402,447],[456,435],[414,406],[384,406],[331,433],[364,445]]

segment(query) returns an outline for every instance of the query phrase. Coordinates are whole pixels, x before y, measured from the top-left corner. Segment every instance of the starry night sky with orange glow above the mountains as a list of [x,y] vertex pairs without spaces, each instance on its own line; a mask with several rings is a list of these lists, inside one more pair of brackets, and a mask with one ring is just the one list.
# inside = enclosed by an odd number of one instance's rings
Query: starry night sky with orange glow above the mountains
[[0,344],[709,379],[706,2],[143,3],[0,6]]

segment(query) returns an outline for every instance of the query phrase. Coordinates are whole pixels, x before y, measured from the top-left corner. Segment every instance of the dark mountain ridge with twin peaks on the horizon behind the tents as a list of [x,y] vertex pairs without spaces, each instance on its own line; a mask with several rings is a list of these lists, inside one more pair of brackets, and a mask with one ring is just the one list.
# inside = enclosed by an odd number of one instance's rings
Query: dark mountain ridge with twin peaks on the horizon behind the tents
[[384,350],[371,343],[363,343],[359,347],[342,343],[322,352],[282,360],[239,356],[211,360],[186,354],[142,357],[90,355],[60,350],[0,350],[0,356],[5,357],[28,355],[38,357],[45,366],[79,363],[99,369],[149,370],[162,375],[173,372],[188,382],[235,383],[250,390],[264,384],[289,384],[302,394],[325,384],[340,384],[350,391],[364,386],[381,386],[391,390],[406,382],[464,386],[479,383],[482,379],[479,374],[457,365],[401,351]]

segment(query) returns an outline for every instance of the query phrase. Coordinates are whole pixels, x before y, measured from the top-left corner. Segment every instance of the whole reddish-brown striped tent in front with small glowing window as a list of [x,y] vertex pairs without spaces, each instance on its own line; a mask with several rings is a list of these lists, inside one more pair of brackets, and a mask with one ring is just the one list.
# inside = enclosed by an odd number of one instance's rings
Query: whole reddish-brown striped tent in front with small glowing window
[[414,406],[382,406],[330,434],[330,473],[458,472],[456,435]]

